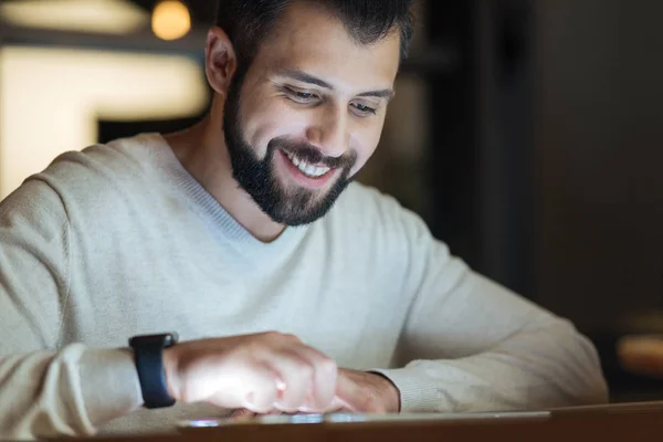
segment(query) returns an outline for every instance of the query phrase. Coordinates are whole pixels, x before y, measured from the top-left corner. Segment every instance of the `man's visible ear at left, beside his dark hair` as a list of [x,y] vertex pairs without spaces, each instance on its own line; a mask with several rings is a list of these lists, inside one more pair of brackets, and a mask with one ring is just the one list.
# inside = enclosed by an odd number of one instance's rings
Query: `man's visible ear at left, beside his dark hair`
[[221,28],[214,27],[208,32],[204,59],[210,86],[218,94],[227,96],[238,67],[238,59],[233,44]]

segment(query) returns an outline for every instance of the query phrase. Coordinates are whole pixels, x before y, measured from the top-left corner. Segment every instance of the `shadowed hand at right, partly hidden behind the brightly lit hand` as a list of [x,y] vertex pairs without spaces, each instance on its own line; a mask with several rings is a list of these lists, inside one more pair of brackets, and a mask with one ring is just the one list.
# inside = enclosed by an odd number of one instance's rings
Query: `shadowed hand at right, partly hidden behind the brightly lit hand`
[[[326,409],[316,412],[334,411],[398,413],[400,411],[400,392],[389,379],[381,375],[341,368],[338,370],[333,402]],[[240,409],[232,414],[232,418],[245,419],[257,414],[281,414],[281,412],[256,413],[248,409]]]

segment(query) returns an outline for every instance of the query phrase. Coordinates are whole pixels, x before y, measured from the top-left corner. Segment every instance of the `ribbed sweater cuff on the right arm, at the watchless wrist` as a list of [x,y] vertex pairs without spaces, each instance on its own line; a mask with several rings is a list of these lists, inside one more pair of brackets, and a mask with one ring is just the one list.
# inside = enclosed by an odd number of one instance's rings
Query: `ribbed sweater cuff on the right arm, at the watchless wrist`
[[369,370],[389,379],[400,392],[401,413],[434,412],[440,410],[442,398],[430,379],[422,379],[421,372],[407,368]]

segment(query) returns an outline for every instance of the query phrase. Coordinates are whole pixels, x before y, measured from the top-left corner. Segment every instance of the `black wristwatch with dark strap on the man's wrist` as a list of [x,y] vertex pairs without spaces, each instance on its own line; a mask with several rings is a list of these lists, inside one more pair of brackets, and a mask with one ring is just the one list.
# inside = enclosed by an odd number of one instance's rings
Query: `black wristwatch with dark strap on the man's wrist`
[[140,335],[129,339],[129,347],[134,349],[145,408],[172,407],[176,402],[166,386],[164,349],[173,346],[177,341],[177,333]]

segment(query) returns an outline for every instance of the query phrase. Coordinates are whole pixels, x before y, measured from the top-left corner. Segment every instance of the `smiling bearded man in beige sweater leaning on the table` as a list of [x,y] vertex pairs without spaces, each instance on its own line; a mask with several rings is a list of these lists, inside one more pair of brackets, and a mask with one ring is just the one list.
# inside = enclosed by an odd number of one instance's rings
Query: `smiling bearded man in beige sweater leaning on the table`
[[[200,124],[67,152],[2,202],[1,436],[606,400],[568,322],[349,183],[378,145],[409,9],[224,0]],[[145,337],[167,332],[180,340]]]

